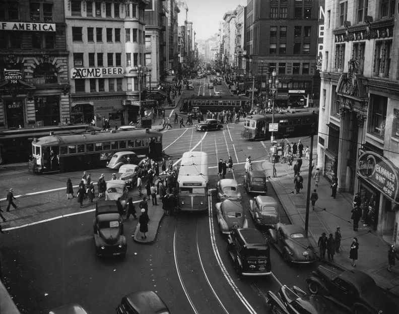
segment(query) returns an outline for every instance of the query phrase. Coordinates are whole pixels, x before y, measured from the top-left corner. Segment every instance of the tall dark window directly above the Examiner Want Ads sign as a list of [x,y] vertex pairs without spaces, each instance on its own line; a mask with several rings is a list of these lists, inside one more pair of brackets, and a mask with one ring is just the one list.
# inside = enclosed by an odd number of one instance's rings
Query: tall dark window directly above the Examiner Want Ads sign
[[370,115],[368,116],[368,133],[384,138],[386,108],[388,98],[384,96],[370,94]]

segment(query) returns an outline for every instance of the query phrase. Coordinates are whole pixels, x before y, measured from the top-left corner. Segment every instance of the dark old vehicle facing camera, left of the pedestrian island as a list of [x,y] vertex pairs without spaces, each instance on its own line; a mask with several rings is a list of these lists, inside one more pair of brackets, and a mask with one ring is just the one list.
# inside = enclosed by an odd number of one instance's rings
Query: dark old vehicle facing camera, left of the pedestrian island
[[124,256],[127,242],[123,235],[123,217],[115,203],[97,202],[95,215],[93,231],[97,256]]

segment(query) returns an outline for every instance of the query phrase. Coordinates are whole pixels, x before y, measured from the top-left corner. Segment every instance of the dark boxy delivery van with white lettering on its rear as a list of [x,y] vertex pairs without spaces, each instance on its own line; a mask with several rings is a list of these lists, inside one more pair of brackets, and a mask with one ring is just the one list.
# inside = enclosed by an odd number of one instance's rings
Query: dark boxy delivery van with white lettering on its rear
[[270,247],[259,230],[233,229],[227,241],[229,255],[238,275],[262,276],[272,273]]

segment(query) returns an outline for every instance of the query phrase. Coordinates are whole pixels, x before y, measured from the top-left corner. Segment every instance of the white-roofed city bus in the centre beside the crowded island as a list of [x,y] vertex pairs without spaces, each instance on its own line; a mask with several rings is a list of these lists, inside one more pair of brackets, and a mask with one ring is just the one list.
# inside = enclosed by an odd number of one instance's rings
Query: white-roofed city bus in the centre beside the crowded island
[[180,211],[208,210],[208,154],[185,152],[181,158],[177,186]]

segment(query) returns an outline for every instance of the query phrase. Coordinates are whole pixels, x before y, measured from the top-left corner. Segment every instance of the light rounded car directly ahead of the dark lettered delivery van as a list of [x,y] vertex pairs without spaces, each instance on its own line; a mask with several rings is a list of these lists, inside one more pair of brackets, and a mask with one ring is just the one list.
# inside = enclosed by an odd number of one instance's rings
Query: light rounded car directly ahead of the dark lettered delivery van
[[234,228],[248,228],[248,221],[240,202],[224,200],[216,203],[215,207],[220,232],[230,234]]

